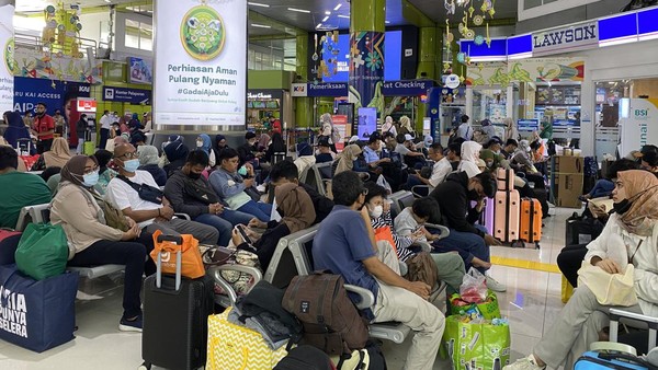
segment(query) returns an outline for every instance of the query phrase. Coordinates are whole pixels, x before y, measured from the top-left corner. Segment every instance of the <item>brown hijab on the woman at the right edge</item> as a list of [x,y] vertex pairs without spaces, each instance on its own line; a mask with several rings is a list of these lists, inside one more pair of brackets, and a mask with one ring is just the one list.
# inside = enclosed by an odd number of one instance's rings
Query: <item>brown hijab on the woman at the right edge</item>
[[620,217],[622,228],[629,233],[647,236],[658,220],[658,178],[648,171],[631,170],[619,173],[626,189],[631,209]]

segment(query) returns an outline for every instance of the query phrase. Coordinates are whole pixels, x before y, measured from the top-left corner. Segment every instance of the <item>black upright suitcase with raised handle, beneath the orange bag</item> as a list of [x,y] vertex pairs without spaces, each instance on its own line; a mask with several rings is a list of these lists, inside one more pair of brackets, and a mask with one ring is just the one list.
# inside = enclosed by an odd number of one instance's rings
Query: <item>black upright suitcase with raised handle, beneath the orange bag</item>
[[[160,235],[181,243],[180,236]],[[191,370],[205,366],[208,316],[213,314],[214,282],[208,276],[181,278],[181,252],[177,254],[175,276],[158,270],[144,281],[143,368],[152,365]]]

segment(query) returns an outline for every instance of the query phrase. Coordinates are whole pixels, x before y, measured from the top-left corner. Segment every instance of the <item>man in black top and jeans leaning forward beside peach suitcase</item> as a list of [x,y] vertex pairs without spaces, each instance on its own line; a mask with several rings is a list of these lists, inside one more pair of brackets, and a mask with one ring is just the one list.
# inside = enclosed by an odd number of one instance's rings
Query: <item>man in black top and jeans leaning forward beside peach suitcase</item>
[[[502,242],[487,234],[484,227],[475,226],[484,207],[485,197],[496,195],[496,180],[488,172],[468,178],[465,172],[453,173],[445,183],[436,186],[430,194],[439,203],[441,210],[440,223],[450,229],[450,235],[441,240],[441,245],[464,250],[479,259],[489,263],[489,245],[500,245]],[[470,201],[477,201],[470,208]],[[475,266],[486,274],[488,266]],[[506,291],[504,285],[487,276],[487,286],[494,291]]]

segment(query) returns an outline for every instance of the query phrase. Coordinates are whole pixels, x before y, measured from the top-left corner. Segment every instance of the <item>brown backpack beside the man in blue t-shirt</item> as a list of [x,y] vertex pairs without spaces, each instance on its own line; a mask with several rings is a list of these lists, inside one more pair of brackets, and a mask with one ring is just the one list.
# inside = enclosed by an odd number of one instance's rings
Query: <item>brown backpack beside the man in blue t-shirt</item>
[[349,355],[364,348],[367,326],[348,297],[340,275],[315,271],[295,276],[285,290],[282,305],[304,326],[299,344],[328,355]]

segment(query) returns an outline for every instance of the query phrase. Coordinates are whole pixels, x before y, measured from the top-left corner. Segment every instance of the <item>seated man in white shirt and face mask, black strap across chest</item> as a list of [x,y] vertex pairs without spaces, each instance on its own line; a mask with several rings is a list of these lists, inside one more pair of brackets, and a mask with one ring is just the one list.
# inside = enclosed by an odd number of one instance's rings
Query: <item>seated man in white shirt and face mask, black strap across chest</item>
[[120,176],[110,181],[105,199],[116,209],[135,220],[140,229],[152,233],[161,230],[164,234],[192,234],[202,244],[215,245],[219,233],[213,227],[203,223],[173,218],[173,208],[167,197],[162,204],[145,200],[133,187],[146,184],[158,188],[158,184],[146,171],[139,171],[137,150],[132,144],[121,144],[114,148],[114,163]]

